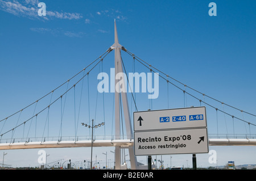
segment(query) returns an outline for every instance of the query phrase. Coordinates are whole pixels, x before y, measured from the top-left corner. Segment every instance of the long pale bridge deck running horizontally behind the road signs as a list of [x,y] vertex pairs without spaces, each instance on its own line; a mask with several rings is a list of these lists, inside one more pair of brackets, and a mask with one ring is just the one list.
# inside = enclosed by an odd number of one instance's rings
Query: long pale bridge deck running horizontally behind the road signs
[[[215,139],[208,140],[209,146],[256,146],[256,139]],[[36,148],[76,148],[91,147],[92,141],[46,141],[46,142],[15,142],[0,144],[0,150],[36,149]],[[133,146],[133,140],[96,140],[93,147]]]

